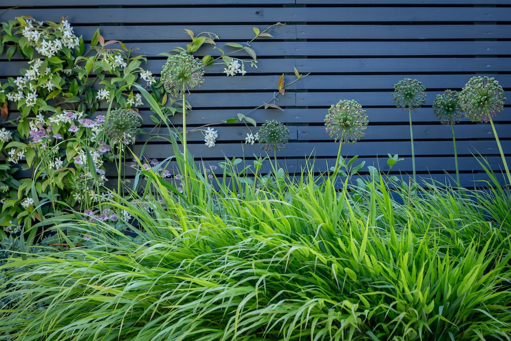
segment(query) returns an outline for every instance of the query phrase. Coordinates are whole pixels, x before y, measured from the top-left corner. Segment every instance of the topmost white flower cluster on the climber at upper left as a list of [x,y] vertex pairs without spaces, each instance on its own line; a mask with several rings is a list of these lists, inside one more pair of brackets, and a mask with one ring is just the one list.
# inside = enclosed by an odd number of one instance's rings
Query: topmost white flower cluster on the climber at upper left
[[21,34],[41,56],[50,58],[57,55],[63,47],[74,49],[80,44],[80,40],[67,20],[61,21],[53,32],[49,28],[44,29],[42,22],[26,20],[26,23],[21,29]]

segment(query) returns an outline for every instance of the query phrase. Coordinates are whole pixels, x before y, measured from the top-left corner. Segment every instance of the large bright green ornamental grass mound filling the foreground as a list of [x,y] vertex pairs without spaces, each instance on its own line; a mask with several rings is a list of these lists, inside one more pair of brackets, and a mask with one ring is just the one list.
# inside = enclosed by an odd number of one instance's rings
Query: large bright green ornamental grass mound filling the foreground
[[338,191],[311,171],[294,183],[275,177],[285,185],[271,190],[240,181],[239,196],[221,179],[215,191],[192,177],[185,198],[144,174],[150,210],[119,204],[135,217],[136,242],[82,221],[87,248],[9,261],[0,301],[22,299],[0,307],[0,335],[463,341],[511,332],[509,225],[487,220],[483,192],[396,183],[393,194],[379,176]]

